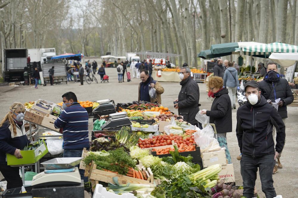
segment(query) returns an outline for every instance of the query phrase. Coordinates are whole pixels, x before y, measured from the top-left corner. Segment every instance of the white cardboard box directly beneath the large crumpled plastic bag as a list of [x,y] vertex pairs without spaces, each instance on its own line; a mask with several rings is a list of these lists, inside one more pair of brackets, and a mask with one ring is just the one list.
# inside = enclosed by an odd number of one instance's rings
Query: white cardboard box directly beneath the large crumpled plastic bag
[[214,164],[221,164],[226,165],[226,152],[225,151],[216,151],[216,152],[210,152],[210,153],[202,153],[202,162],[203,167],[209,167]]

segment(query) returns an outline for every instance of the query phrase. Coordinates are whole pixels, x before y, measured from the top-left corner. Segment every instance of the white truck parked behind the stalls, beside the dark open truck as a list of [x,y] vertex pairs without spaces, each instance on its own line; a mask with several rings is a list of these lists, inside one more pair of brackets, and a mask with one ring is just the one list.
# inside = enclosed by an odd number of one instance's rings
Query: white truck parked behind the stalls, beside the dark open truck
[[43,64],[53,56],[56,56],[56,50],[55,48],[28,49],[28,56],[30,57],[30,62],[40,61]]

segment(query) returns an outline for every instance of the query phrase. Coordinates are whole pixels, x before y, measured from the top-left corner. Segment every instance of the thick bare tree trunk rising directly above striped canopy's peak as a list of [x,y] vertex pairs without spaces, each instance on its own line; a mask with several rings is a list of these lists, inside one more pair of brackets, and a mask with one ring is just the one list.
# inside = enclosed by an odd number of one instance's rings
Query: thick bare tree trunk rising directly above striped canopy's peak
[[287,26],[287,0],[278,1],[277,21],[276,21],[276,40],[278,42],[285,42],[286,26]]

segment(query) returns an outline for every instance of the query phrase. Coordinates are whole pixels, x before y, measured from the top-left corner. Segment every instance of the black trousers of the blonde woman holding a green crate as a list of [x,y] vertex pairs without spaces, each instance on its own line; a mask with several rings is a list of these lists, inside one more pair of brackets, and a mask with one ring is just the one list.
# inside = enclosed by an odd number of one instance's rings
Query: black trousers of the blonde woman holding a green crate
[[22,179],[19,175],[19,167],[0,164],[0,172],[7,181],[6,189],[20,188],[23,186]]

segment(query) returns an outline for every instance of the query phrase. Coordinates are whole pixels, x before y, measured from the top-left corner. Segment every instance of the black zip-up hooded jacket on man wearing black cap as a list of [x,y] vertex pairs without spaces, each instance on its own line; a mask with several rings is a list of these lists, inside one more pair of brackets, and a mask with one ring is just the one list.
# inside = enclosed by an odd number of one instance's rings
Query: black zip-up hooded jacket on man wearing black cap
[[277,129],[275,150],[280,153],[285,145],[285,124],[277,110],[262,95],[257,104],[246,102],[239,107],[236,135],[240,152],[253,157],[274,154],[273,125]]

